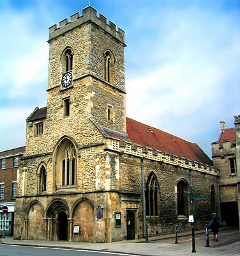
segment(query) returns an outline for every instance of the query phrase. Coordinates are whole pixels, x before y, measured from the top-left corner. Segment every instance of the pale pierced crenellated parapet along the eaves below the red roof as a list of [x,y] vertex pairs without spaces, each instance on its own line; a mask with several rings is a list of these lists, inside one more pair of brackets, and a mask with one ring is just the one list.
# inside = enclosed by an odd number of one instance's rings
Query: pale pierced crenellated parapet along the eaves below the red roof
[[116,150],[124,154],[130,154],[132,156],[144,157],[153,161],[161,163],[172,164],[177,167],[187,168],[203,173],[209,173],[217,175],[217,169],[214,166],[208,164],[199,163],[191,159],[185,159],[184,157],[174,156],[167,152],[161,152],[160,150],[153,150],[153,148],[143,148],[141,145],[132,145],[129,141],[120,143],[119,140],[112,140],[112,143],[108,143],[109,149]]

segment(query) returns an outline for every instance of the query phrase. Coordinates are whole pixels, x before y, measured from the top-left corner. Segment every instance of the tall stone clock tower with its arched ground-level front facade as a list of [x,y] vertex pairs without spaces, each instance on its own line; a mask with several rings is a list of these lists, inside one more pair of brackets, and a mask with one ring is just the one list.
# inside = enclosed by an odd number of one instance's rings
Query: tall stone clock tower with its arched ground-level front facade
[[126,134],[124,31],[89,6],[52,26],[48,42],[47,108],[27,118],[15,237],[72,240],[80,225],[81,241],[111,241],[119,156],[103,132]]

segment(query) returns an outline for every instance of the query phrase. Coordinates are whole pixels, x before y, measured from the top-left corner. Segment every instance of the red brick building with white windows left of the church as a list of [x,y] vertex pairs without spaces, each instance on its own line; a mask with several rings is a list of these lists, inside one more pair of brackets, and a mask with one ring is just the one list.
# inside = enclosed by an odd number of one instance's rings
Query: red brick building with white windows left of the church
[[20,147],[0,152],[0,206],[6,205],[8,207],[5,221],[3,211],[0,211],[0,232],[3,234],[5,222],[6,236],[13,236],[15,199],[17,196],[17,170],[24,151],[25,147]]

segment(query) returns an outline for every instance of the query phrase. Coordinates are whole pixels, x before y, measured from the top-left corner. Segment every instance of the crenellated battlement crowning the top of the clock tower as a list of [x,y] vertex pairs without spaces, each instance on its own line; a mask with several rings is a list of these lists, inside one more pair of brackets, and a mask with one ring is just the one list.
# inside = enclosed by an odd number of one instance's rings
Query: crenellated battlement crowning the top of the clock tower
[[58,36],[64,35],[72,29],[78,28],[88,22],[92,22],[125,45],[124,31],[121,28],[118,28],[116,31],[116,25],[113,22],[109,20],[109,24],[107,24],[107,18],[101,14],[97,17],[96,12],[97,11],[93,7],[88,6],[82,10],[82,16],[79,16],[79,12],[77,12],[71,15],[70,22],[68,22],[68,19],[64,19],[59,22],[59,28],[57,28],[56,24],[51,26],[49,28],[49,41],[57,38]]

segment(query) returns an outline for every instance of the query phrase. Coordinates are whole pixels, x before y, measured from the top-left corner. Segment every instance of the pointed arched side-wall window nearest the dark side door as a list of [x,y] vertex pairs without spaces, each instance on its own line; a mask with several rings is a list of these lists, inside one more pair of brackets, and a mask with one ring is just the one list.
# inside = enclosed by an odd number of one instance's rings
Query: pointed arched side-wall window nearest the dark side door
[[154,173],[150,173],[146,183],[146,215],[158,216],[159,186]]

